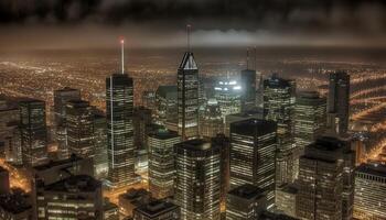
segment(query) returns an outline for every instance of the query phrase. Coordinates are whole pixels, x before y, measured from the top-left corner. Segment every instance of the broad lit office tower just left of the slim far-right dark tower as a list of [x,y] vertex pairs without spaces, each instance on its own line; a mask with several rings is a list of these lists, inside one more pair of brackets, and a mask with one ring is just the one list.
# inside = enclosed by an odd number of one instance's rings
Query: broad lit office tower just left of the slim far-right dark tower
[[294,152],[293,172],[299,173],[299,156],[303,154],[304,147],[321,136],[325,131],[325,98],[317,91],[303,91],[297,97],[294,106]]

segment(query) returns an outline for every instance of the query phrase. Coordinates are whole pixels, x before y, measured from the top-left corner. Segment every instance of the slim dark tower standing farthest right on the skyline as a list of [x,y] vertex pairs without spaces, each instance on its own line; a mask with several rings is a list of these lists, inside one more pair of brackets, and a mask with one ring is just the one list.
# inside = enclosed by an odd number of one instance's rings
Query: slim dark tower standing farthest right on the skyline
[[328,99],[329,131],[344,135],[349,129],[350,75],[345,72],[330,74]]

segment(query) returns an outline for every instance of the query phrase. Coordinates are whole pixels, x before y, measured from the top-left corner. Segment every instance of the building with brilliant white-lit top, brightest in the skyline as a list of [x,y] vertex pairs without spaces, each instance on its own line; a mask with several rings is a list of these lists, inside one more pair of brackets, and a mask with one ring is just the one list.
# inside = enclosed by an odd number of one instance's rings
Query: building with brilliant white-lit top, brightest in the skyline
[[228,114],[242,112],[242,85],[236,79],[225,78],[216,82],[214,98],[218,102],[223,119]]

